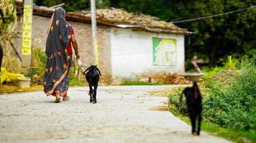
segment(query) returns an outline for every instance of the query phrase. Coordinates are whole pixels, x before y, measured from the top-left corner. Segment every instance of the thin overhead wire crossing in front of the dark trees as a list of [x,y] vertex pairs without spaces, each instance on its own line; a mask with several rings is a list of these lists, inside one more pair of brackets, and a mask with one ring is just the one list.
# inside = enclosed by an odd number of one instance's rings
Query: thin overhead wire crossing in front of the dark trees
[[186,20],[170,21],[170,22],[172,22],[173,24],[177,24],[177,23],[183,23],[183,22],[188,22],[188,21],[196,21],[196,20],[201,20],[201,19],[208,19],[208,18],[211,18],[211,17],[233,14],[233,13],[237,13],[237,12],[240,12],[240,11],[245,11],[247,9],[254,9],[254,8],[256,8],[256,6],[250,6],[250,7],[244,8],[244,9],[237,9],[235,11],[229,11],[229,12],[225,12],[225,13],[222,13],[222,14],[214,14],[214,15],[211,15],[211,16],[198,17],[198,18],[195,18],[195,19],[186,19]]

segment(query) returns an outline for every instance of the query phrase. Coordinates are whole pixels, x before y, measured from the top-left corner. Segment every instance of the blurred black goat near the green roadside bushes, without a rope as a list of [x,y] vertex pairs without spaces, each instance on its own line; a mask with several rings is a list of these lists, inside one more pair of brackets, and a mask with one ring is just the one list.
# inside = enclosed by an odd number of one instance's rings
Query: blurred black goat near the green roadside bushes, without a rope
[[[183,90],[183,93],[186,97],[186,104],[188,107],[189,118],[191,119],[192,124],[192,134],[200,134],[201,127],[201,112],[202,112],[202,98],[201,92],[198,89],[196,81],[193,81],[192,87],[186,87]],[[182,99],[182,97],[180,97]],[[196,118],[198,117],[198,128],[196,132]]]

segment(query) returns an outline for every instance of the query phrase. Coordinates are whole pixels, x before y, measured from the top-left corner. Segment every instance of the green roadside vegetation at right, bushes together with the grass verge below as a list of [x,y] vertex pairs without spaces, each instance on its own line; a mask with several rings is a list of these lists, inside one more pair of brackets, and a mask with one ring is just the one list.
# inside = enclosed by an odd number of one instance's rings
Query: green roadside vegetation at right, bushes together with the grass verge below
[[[203,96],[202,129],[234,142],[256,142],[256,56],[227,59],[208,71],[199,86]],[[170,112],[188,120],[183,88],[169,96]],[[249,139],[249,140],[248,140]]]

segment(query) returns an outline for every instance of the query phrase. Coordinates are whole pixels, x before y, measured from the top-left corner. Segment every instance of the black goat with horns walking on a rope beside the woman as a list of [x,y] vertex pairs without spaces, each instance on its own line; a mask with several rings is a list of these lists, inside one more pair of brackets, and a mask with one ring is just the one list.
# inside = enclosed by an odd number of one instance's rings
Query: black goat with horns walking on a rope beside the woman
[[90,92],[89,92],[90,102],[93,102],[94,104],[97,102],[96,94],[97,94],[97,88],[99,83],[99,77],[101,76],[101,71],[99,71],[97,65],[89,66],[86,69],[86,71],[84,71],[83,74],[86,74],[86,80],[90,87]]

